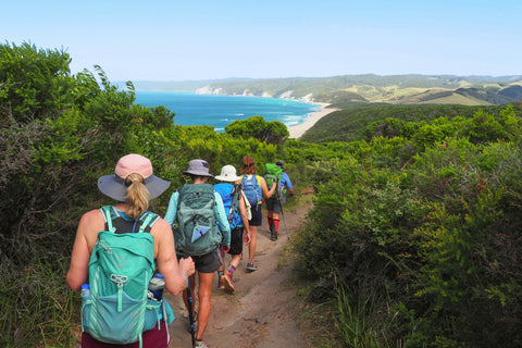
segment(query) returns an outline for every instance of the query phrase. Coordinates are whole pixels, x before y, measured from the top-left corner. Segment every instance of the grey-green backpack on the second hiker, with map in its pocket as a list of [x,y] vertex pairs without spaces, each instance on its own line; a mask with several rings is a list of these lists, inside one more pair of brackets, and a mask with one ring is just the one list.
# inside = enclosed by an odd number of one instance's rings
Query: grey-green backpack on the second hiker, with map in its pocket
[[186,184],[177,191],[176,253],[182,257],[209,253],[222,241],[215,220],[214,187],[211,184]]

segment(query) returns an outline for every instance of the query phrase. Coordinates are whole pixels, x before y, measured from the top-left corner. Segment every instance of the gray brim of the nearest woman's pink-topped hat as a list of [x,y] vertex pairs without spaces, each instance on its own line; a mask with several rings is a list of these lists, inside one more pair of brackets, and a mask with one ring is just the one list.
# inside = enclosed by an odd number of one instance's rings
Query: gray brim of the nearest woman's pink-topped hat
[[[163,194],[171,183],[164,181],[156,175],[150,175],[144,181],[145,187],[149,191],[149,199],[152,200]],[[105,196],[119,201],[124,202],[125,195],[127,192],[127,186],[125,181],[116,174],[104,175],[98,179],[98,189]]]

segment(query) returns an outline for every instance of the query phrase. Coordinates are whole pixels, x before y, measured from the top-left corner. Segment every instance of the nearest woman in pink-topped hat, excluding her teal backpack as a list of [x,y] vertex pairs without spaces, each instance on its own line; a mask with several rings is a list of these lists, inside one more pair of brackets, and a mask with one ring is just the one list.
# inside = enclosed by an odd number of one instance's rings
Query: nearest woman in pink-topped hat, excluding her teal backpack
[[[133,226],[140,227],[139,217],[144,213],[150,213],[149,201],[160,196],[169,186],[169,182],[153,175],[152,164],[147,158],[135,153],[121,158],[114,174],[98,179],[100,191],[116,201],[116,204],[109,207],[110,223],[115,227],[114,233],[126,234]],[[153,215],[156,220],[148,222],[144,232],[153,237],[153,258],[158,271],[164,275],[165,288],[177,295],[186,288],[188,276],[194,274],[194,262],[190,258],[177,261],[171,225],[160,216]],[[73,290],[79,290],[83,284],[89,283],[89,259],[98,234],[108,229],[105,213],[101,209],[88,211],[82,216],[66,276],[67,285]],[[170,340],[164,324],[144,331],[141,338],[142,343],[108,345],[84,332],[82,347],[140,347],[142,344],[144,347],[166,348]]]

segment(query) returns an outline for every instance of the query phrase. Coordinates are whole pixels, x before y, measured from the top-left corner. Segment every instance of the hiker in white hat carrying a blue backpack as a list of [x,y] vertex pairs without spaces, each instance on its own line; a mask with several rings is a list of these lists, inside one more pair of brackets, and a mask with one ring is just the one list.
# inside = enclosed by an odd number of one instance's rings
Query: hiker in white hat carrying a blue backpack
[[[232,256],[228,269],[225,270],[225,252],[221,252],[223,265],[217,270],[217,287],[224,288],[228,293],[234,293],[233,276],[243,254],[243,241],[248,245],[250,243],[250,227],[248,224],[246,197],[241,190],[241,176],[236,175],[236,169],[232,165],[225,165],[221,169],[221,174],[215,176],[216,179],[223,182],[214,185],[225,206],[225,212],[228,214],[228,223],[231,224],[231,250]],[[245,232],[245,233],[244,233]]]

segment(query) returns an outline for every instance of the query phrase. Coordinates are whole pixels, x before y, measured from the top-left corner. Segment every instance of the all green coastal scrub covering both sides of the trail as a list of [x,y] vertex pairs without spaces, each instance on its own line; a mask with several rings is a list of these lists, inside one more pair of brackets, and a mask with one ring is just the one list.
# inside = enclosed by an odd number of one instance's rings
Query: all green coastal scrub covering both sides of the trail
[[520,103],[346,109],[307,141],[260,116],[219,134],[135,104],[134,85],[121,90],[99,66],[72,76],[70,62],[0,46],[0,346],[74,346],[79,296],[64,275],[76,224],[110,203],[96,181],[130,152],[170,191],[194,158],[213,173],[245,154],[284,160],[314,189],[293,238],[297,271],[309,299],[331,304],[344,347],[522,345]]

